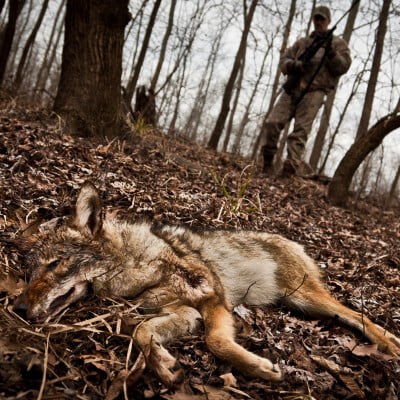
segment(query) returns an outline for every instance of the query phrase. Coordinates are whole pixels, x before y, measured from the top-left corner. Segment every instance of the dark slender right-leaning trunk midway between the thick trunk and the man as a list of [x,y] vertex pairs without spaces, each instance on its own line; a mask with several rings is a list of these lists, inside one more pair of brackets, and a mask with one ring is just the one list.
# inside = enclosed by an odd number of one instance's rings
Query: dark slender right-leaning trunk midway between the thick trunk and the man
[[208,142],[208,148],[217,150],[219,139],[222,135],[224,129],[226,117],[229,112],[229,103],[232,97],[233,86],[236,81],[237,74],[239,72],[241,60],[245,54],[245,49],[247,45],[247,36],[250,31],[251,21],[253,19],[254,11],[257,6],[258,0],[252,0],[249,12],[246,16],[245,25],[242,33],[242,38],[240,40],[239,49],[236,53],[235,61],[233,63],[231,75],[229,77],[228,83],[226,84],[224,96],[222,98],[221,111],[219,113],[217,122],[215,124],[214,130],[211,134],[210,140]]

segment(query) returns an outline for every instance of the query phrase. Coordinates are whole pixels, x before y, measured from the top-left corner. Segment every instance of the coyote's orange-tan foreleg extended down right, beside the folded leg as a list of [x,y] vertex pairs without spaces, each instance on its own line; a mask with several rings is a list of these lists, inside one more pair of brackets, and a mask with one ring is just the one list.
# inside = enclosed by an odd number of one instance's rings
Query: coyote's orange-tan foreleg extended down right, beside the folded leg
[[207,300],[200,307],[200,312],[205,325],[206,343],[217,357],[228,361],[247,375],[271,381],[282,379],[277,365],[235,342],[232,314],[219,299]]

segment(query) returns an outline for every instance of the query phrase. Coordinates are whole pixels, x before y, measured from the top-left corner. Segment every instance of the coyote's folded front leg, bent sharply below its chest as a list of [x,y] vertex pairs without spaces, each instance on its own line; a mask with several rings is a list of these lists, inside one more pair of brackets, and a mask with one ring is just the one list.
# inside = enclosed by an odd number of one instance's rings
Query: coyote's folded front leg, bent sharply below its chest
[[182,376],[182,370],[164,344],[193,333],[199,326],[199,312],[188,306],[164,307],[159,317],[143,322],[136,329],[134,338],[144,354],[148,354],[147,366],[167,385],[172,386]]

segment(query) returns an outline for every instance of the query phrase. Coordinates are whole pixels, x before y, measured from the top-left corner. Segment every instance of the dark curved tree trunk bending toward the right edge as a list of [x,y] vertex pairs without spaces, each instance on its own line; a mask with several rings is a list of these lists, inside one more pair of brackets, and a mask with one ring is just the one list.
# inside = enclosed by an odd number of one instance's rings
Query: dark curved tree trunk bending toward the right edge
[[366,133],[357,137],[340,162],[329,185],[328,198],[332,204],[346,206],[350,183],[357,168],[365,157],[382,143],[385,136],[397,128],[400,128],[398,112],[381,118]]

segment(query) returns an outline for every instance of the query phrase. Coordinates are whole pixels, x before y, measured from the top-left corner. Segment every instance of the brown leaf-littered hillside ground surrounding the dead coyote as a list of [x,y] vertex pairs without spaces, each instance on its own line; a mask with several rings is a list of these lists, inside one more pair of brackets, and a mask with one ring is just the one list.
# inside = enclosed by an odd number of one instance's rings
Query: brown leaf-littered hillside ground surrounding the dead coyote
[[239,343],[278,362],[282,382],[230,369],[207,350],[200,332],[168,346],[185,371],[180,386],[168,390],[145,372],[125,395],[117,378],[134,364],[129,332],[143,319],[134,302],[91,296],[45,325],[13,313],[28,274],[13,240],[38,217],[68,213],[90,179],[108,211],[131,220],[263,230],[296,240],[337,299],[400,336],[398,211],[363,202],[332,207],[326,186],[267,178],[248,164],[146,129],[129,142],[63,136],[59,120],[46,112],[2,104],[0,398],[102,399],[112,387],[119,399],[398,399],[399,361],[335,321],[283,306],[235,315]]

